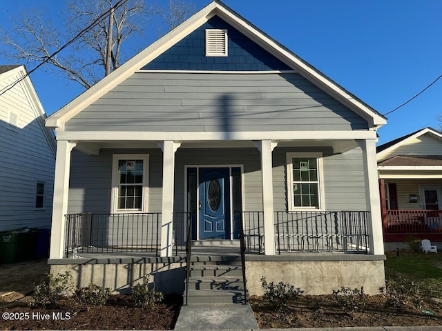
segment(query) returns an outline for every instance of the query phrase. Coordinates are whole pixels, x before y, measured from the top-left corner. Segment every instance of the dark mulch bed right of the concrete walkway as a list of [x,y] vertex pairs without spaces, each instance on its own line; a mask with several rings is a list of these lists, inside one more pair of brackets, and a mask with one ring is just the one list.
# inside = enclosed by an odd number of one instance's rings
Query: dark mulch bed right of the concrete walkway
[[[422,308],[415,308],[408,303],[393,308],[381,295],[367,297],[365,305],[354,312],[343,310],[332,295],[302,295],[277,309],[269,308],[260,297],[251,297],[250,303],[260,328],[442,325],[438,305],[424,303]],[[425,315],[423,310],[434,315]]]

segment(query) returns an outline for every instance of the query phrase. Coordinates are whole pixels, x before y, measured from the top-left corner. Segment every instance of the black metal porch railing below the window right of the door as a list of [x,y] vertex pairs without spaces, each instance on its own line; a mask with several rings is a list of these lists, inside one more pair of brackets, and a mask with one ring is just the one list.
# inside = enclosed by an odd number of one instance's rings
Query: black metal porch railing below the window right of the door
[[276,212],[275,250],[368,253],[367,211]]

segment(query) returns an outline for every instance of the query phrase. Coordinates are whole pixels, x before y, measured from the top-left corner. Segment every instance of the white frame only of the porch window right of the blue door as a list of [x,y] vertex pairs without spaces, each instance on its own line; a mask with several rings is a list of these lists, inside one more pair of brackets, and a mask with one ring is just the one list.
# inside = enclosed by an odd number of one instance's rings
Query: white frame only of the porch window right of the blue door
[[[287,204],[289,212],[299,210],[324,210],[324,187],[323,187],[323,153],[322,152],[289,152],[287,157]],[[293,194],[293,159],[294,157],[309,157],[316,158],[316,164],[318,165],[318,208],[316,207],[295,207],[294,194]]]

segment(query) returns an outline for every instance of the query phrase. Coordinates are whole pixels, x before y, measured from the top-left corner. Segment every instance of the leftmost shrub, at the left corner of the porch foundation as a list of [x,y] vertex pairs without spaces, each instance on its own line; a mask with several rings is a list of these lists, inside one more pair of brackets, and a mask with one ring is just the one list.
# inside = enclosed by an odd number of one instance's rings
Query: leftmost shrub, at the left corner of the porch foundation
[[35,305],[55,305],[66,295],[72,294],[73,284],[70,272],[64,274],[46,274],[46,279],[36,286],[32,298]]

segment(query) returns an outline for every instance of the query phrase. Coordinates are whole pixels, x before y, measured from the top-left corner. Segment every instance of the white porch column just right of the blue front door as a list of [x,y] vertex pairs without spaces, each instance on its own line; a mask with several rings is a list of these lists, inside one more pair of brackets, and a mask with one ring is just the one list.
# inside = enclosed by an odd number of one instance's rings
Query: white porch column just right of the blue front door
[[276,147],[271,140],[256,141],[261,152],[262,210],[264,210],[264,250],[266,255],[275,254],[275,229],[273,224],[273,168],[271,152]]

